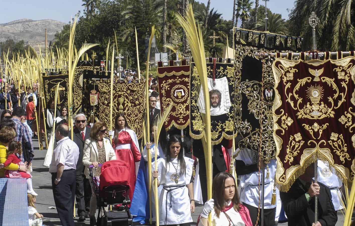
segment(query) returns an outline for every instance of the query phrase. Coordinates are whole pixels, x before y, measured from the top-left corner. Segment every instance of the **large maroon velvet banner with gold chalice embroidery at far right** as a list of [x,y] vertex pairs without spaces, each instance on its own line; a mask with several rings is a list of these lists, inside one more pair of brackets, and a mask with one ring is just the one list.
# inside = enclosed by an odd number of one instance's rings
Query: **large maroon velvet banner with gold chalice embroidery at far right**
[[355,173],[355,58],[280,58],[273,72],[273,136],[280,190],[286,192],[317,159],[328,161],[344,183],[351,182]]

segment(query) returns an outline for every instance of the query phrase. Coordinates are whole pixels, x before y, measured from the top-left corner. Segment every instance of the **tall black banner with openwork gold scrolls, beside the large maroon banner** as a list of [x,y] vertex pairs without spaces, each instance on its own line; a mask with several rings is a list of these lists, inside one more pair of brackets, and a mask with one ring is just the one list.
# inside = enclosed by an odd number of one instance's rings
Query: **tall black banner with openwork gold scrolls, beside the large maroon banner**
[[[240,150],[250,149],[261,155],[264,162],[269,163],[276,156],[273,138],[274,75],[272,63],[274,57],[263,57],[261,53],[288,53],[301,49],[301,38],[267,37],[268,33],[253,31],[242,33],[234,28],[234,65],[236,75],[236,126],[241,140],[237,147]],[[273,39],[273,40],[272,40]],[[273,41],[272,44],[270,41]],[[265,46],[268,43],[268,47]]]

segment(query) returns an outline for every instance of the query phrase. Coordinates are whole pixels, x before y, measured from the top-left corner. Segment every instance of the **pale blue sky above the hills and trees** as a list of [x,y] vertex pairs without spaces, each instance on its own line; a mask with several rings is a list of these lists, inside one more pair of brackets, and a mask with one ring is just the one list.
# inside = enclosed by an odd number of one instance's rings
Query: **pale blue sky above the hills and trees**
[[[134,0],[132,0],[134,1]],[[196,0],[207,5],[208,0]],[[254,1],[255,2],[255,1]],[[83,11],[81,0],[10,0],[0,1],[0,23],[7,23],[22,18],[32,20],[52,19],[69,22],[78,10]],[[264,1],[260,0],[260,4]],[[288,18],[286,9],[292,9],[294,0],[270,0],[267,2],[272,12]],[[233,14],[233,0],[211,0],[211,9],[222,13],[223,18],[231,20]]]

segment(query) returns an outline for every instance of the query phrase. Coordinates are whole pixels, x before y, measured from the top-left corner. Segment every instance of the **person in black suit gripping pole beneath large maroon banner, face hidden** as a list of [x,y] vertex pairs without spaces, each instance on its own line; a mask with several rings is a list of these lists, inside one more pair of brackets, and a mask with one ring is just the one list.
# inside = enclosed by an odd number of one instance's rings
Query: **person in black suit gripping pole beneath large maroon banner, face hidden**
[[[332,203],[330,189],[322,183],[313,183],[314,163],[308,166],[288,192],[280,198],[288,217],[289,226],[334,226],[338,216]],[[315,199],[318,195],[318,221],[315,223]]]

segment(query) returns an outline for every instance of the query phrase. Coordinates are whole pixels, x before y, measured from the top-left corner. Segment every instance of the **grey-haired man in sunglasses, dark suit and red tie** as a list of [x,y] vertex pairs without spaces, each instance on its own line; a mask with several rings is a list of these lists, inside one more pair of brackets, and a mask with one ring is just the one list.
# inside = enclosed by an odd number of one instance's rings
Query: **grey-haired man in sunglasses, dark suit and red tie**
[[91,187],[88,179],[84,176],[83,148],[85,140],[90,138],[91,128],[87,127],[87,119],[84,113],[79,113],[75,117],[75,128],[73,130],[73,141],[79,147],[79,159],[76,165],[76,187],[75,198],[78,206],[78,221],[89,218]]

